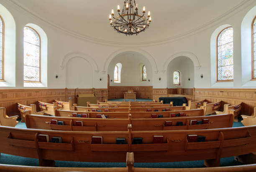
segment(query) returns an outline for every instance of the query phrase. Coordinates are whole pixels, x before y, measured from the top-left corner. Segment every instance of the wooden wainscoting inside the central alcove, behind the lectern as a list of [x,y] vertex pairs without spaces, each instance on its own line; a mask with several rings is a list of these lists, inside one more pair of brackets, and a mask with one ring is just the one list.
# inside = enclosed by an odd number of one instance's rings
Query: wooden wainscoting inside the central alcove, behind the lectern
[[124,98],[123,92],[127,92],[127,90],[136,92],[136,98],[153,98],[153,86],[110,86],[108,99]]

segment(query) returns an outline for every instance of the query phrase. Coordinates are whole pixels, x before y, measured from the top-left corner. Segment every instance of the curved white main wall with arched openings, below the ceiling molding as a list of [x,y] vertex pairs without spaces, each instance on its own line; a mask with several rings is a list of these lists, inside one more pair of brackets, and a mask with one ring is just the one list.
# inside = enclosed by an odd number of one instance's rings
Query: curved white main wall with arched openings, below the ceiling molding
[[[242,59],[241,59],[241,23],[244,16],[249,10],[256,6],[255,0],[248,0],[245,5],[237,7],[235,10],[221,16],[218,20],[213,20],[207,25],[194,30],[193,32],[185,33],[177,37],[172,37],[161,42],[148,42],[146,44],[129,43],[118,45],[114,42],[95,42],[86,38],[78,37],[77,35],[61,30],[48,22],[41,20],[38,17],[31,15],[13,4],[12,1],[0,0],[2,4],[13,15],[16,26],[16,43],[11,48],[15,48],[16,67],[15,67],[15,87],[8,85],[1,89],[24,88],[23,86],[23,27],[27,23],[33,23],[40,26],[48,37],[48,85],[47,88],[65,88],[67,87],[66,57],[70,54],[82,54],[84,58],[92,66],[93,81],[92,85],[95,88],[107,88],[107,74],[113,69],[113,64],[110,64],[116,55],[134,51],[142,54],[151,64],[152,76],[149,76],[150,82],[145,85],[153,85],[154,88],[166,88],[168,71],[167,67],[175,57],[187,56],[195,65],[194,78],[196,88],[227,88],[227,83],[215,85],[211,83],[211,55],[210,42],[212,33],[221,25],[231,25],[234,30],[234,82],[230,88],[256,88],[256,81],[251,81],[250,85],[242,83]],[[0,11],[1,13],[1,11]],[[256,11],[254,12],[256,15]],[[203,14],[202,14],[203,15]],[[175,16],[173,16],[175,17]],[[81,21],[82,22],[82,21]],[[152,22],[152,25],[154,23]],[[108,27],[108,26],[106,26]],[[170,28],[172,29],[172,28]],[[105,33],[108,34],[108,33]],[[141,34],[146,34],[141,33]],[[136,36],[135,36],[136,37]],[[168,37],[168,35],[166,35]],[[247,43],[251,46],[251,42]],[[73,56],[75,57],[75,56]],[[80,56],[79,56],[80,57]],[[243,57],[243,56],[242,56]],[[127,61],[129,64],[130,61]],[[114,63],[114,62],[113,62]],[[138,65],[141,62],[136,62]],[[109,65],[110,64],[110,65]],[[123,63],[122,63],[123,64]],[[76,67],[76,63],[69,64],[71,68]],[[123,64],[124,65],[124,64]],[[131,65],[131,64],[130,64]],[[136,67],[136,65],[133,66]],[[248,66],[251,68],[251,66]],[[148,67],[147,67],[148,69]],[[130,70],[123,66],[123,71]],[[135,72],[134,68],[130,70]],[[113,72],[110,72],[110,74]],[[59,78],[56,79],[55,75]],[[204,77],[201,79],[200,75]],[[123,76],[129,76],[125,74]],[[132,75],[136,75],[133,73]],[[134,76],[133,76],[134,77]],[[161,81],[158,78],[161,77]],[[99,79],[102,78],[100,81]],[[111,76],[110,76],[111,78]],[[113,77],[112,77],[113,78]],[[134,82],[133,82],[134,81]],[[246,81],[247,82],[247,81]],[[112,82],[113,83],[113,82]],[[110,82],[110,85],[112,85]],[[130,80],[129,82],[121,82],[122,85],[144,85],[139,79]],[[75,85],[72,85],[75,86]],[[77,87],[77,86],[75,86]],[[88,86],[89,87],[89,86]],[[26,87],[27,88],[27,87]]]

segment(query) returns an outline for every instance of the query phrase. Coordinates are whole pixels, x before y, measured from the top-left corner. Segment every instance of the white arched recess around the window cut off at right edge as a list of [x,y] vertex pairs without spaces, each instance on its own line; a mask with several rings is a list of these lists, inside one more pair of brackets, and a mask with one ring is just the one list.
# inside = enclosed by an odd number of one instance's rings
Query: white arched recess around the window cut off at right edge
[[241,62],[242,62],[242,85],[253,87],[256,81],[252,79],[252,22],[256,16],[256,6],[251,8],[244,16],[241,23]]

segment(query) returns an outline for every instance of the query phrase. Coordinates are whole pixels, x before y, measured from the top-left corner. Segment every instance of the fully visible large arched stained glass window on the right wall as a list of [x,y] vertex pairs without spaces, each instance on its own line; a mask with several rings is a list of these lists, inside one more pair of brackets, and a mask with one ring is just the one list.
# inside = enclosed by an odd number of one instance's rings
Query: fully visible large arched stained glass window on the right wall
[[223,29],[217,37],[217,81],[233,81],[233,28]]

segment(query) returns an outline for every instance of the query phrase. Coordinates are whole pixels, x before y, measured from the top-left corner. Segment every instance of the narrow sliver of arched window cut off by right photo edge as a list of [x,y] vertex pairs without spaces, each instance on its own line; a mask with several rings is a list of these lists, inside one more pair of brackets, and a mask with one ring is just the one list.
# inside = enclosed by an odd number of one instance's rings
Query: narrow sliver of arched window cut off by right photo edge
[[252,79],[256,79],[256,16],[252,22]]

